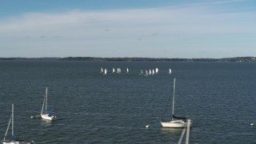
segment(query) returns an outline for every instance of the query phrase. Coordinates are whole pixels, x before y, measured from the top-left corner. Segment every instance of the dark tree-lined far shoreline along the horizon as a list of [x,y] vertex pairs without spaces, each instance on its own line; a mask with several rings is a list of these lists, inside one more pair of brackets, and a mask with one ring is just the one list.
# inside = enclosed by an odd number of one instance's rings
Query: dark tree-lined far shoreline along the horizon
[[256,62],[255,57],[235,58],[95,58],[95,57],[66,57],[66,58],[0,58],[0,61],[167,61],[167,62]]

